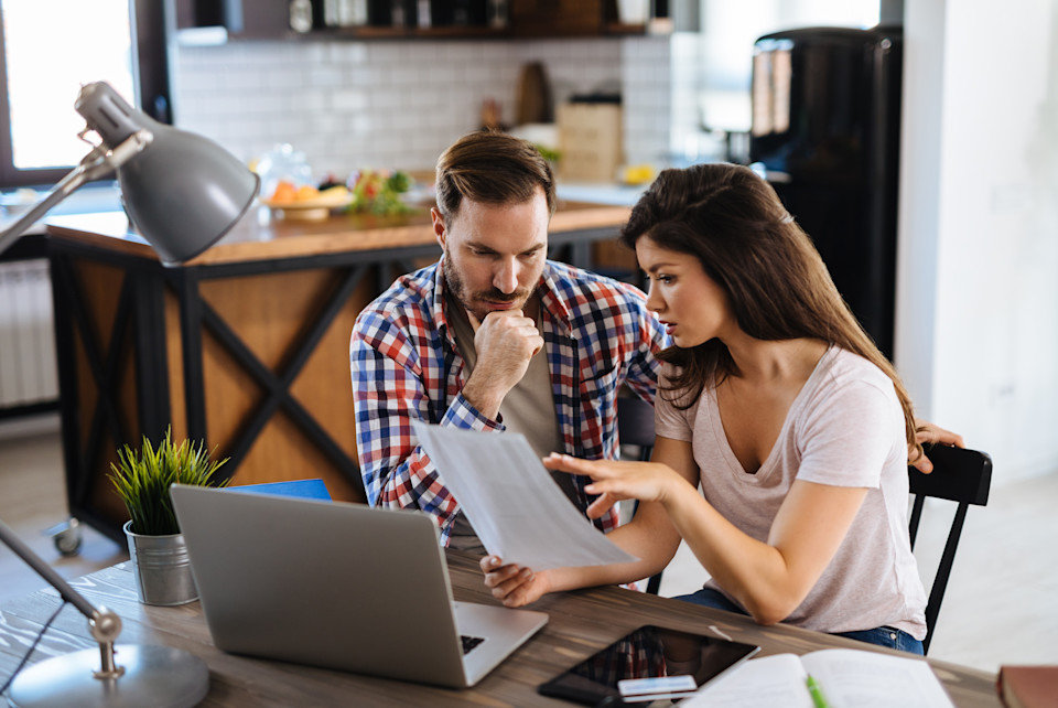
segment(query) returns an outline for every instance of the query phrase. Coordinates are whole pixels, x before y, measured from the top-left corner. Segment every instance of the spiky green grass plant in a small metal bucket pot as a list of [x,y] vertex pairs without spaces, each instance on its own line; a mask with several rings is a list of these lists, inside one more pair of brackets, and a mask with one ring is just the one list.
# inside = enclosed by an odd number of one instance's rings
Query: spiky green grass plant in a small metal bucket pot
[[217,482],[214,473],[225,462],[227,458],[210,461],[204,442],[174,444],[171,430],[156,449],[143,436],[139,451],[129,446],[118,450],[118,463],[110,463],[109,476],[129,511],[123,529],[141,602],[183,604],[198,597],[169,487],[173,483],[224,486],[227,480]]

